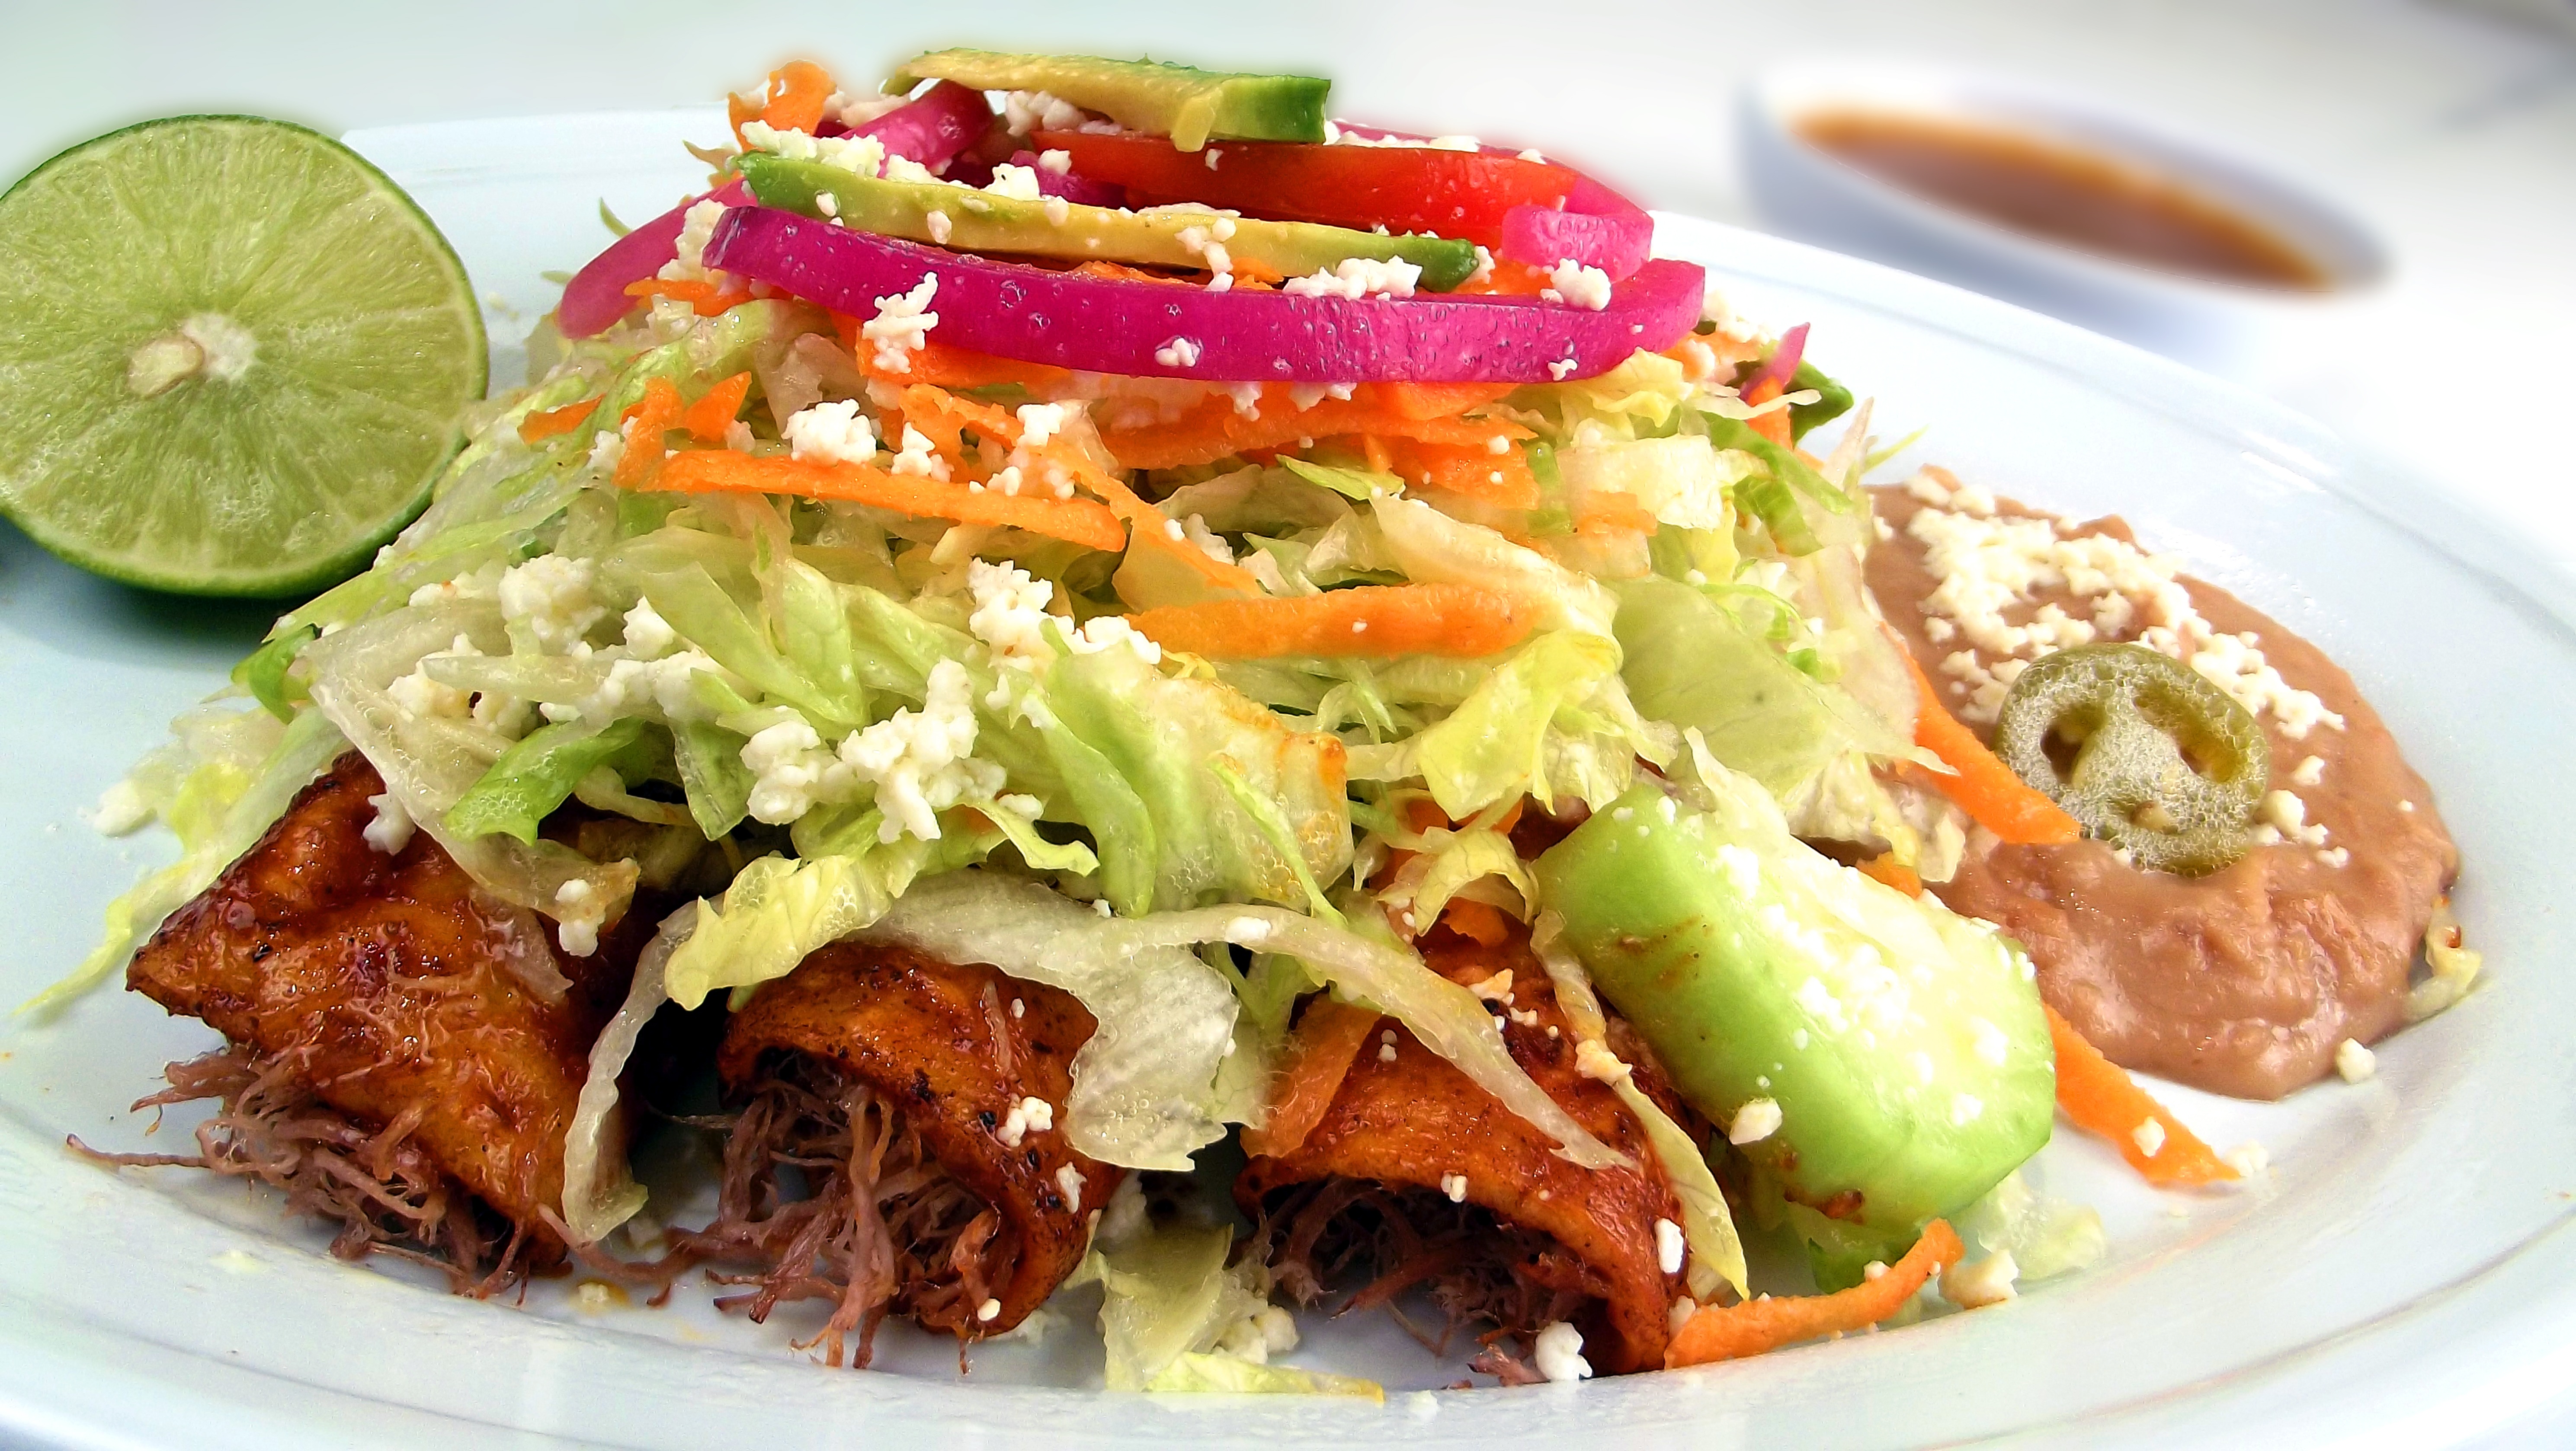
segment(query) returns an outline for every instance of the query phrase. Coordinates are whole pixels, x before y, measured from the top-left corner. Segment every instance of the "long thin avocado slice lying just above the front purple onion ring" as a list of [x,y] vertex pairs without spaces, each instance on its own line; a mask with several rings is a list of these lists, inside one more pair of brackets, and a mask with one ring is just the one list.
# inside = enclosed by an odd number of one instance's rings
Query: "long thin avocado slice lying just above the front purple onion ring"
[[[940,180],[884,180],[827,162],[801,162],[770,152],[737,157],[742,180],[762,206],[824,216],[819,198],[832,198],[832,216],[884,237],[909,237],[974,253],[1028,253],[1105,263],[1151,263],[1203,268],[1203,255],[1182,242],[1182,232],[1208,232],[1218,216],[1157,206],[1123,211],[1059,201],[1025,201],[971,186]],[[948,222],[933,232],[930,214]],[[1255,222],[1229,216],[1234,229],[1224,247],[1239,260],[1260,263],[1283,276],[1329,271],[1342,258],[1404,258],[1422,268],[1427,291],[1448,291],[1476,271],[1476,247],[1445,237],[1381,237],[1321,222]]]

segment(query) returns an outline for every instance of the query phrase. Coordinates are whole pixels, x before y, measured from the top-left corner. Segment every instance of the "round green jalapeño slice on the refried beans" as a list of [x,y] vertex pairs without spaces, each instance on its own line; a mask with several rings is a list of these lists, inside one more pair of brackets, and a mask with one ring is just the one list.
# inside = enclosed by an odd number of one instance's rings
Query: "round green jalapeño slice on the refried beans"
[[2272,747],[2226,691],[2143,644],[2032,660],[2004,696],[1994,753],[2148,871],[2202,876],[2246,853]]

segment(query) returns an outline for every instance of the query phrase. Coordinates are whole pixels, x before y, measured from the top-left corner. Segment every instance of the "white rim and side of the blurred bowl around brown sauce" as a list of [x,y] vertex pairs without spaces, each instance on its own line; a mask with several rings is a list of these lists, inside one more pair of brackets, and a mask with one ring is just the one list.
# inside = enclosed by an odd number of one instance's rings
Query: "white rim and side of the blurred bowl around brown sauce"
[[[2174,178],[2313,260],[2321,291],[2156,271],[2017,232],[1880,180],[1798,134],[1821,111],[2030,134]],[[2388,250],[2349,211],[2262,165],[2097,101],[1911,62],[1795,62],[1744,93],[1744,173],[1775,229],[1955,281],[2223,374],[2329,335],[2378,291]]]

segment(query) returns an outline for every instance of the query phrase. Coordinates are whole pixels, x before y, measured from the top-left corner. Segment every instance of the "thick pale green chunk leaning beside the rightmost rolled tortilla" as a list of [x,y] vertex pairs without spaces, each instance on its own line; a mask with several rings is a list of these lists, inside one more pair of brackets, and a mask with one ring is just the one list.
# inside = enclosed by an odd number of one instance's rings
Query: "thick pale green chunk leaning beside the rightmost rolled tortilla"
[[[1713,809],[1641,783],[1538,858],[1540,897],[1618,1010],[1775,1183],[1826,1283],[1893,1260],[2048,1142],[2056,1057],[2030,959],[1981,923],[1798,843],[1749,776]],[[1803,1206],[1803,1211],[1801,1211]]]

